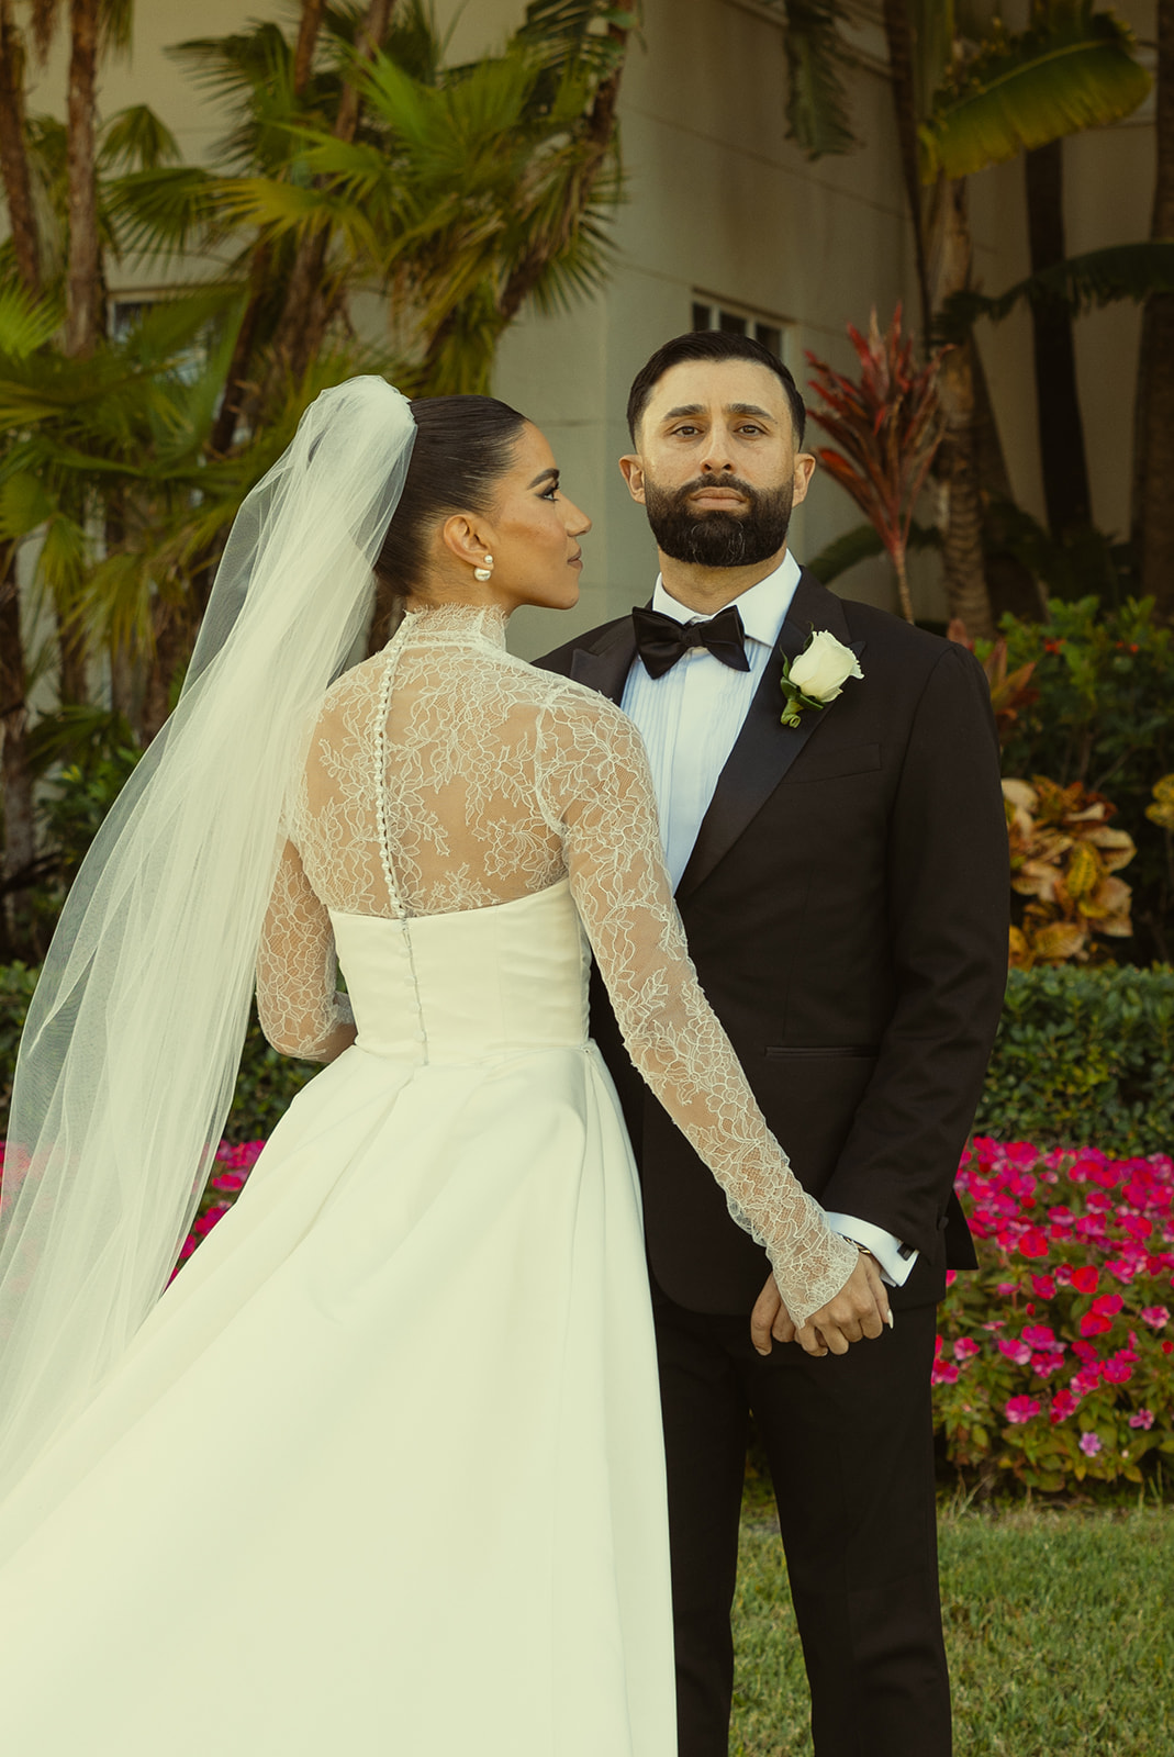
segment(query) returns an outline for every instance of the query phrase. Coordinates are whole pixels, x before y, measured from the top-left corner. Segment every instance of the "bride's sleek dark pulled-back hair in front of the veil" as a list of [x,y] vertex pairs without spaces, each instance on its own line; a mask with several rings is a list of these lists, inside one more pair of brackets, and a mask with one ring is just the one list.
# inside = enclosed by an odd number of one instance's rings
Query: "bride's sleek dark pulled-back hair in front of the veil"
[[395,517],[374,564],[385,590],[418,590],[427,539],[446,513],[485,513],[513,462],[525,416],[497,397],[413,397],[417,439]]

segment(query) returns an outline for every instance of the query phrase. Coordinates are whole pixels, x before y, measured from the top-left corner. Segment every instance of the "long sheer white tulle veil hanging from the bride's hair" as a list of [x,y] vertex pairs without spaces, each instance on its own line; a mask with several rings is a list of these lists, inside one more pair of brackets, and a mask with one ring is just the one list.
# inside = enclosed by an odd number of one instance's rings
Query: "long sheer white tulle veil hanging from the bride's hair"
[[0,1495],[167,1283],[225,1123],[281,813],[371,615],[415,423],[323,392],[244,501],[179,705],[69,894],[16,1070],[0,1209]]

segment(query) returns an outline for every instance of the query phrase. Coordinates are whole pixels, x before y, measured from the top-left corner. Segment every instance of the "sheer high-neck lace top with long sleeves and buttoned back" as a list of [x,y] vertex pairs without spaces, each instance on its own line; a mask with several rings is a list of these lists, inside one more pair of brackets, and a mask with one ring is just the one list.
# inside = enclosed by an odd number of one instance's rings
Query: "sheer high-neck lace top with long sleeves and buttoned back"
[[805,1195],[698,984],[631,720],[504,648],[492,611],[406,617],[329,691],[288,812],[258,959],[258,1010],[286,1054],[329,1054],[329,910],[401,917],[510,903],[569,878],[629,1054],[763,1244],[801,1321],[856,1247]]

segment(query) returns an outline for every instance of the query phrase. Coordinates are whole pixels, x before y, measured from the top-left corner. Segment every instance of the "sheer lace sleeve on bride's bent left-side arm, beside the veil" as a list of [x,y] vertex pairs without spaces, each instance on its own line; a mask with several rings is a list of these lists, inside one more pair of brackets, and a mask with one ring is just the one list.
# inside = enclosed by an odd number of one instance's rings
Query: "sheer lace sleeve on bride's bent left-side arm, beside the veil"
[[334,991],[336,972],[330,915],[286,842],[257,954],[260,1028],[283,1056],[330,1061],[351,1042],[355,1016]]

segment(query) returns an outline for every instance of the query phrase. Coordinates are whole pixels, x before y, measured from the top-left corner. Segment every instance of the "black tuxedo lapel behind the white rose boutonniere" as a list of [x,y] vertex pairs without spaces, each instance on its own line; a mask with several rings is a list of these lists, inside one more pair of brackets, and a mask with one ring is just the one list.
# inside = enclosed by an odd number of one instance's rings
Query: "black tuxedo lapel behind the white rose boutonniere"
[[835,634],[858,657],[863,652],[863,641],[851,638],[840,599],[823,587],[815,575],[803,569],[779,643],[766,661],[766,669],[750,701],[750,712],[721,771],[689,864],[677,886],[677,896],[682,900],[696,891],[717,863],[726,857],[747,824],[761,812],[807,740],[833,712],[831,706],[819,712],[808,708],[800,717],[798,726],[782,726],[782,661],[784,657],[798,659],[812,629],[826,629]]

